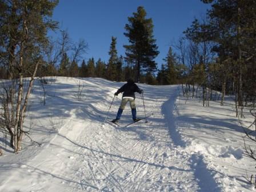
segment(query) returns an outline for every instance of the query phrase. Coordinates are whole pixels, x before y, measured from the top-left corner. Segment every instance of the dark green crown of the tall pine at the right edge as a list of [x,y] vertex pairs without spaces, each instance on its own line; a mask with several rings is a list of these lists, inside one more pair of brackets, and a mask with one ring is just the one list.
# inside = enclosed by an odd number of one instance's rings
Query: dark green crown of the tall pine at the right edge
[[[239,105],[242,105],[242,91],[246,91],[243,95],[251,95],[256,83],[251,73],[256,54],[256,2],[225,0],[214,1],[212,6],[208,14],[217,43],[215,51],[219,55],[220,65],[224,66],[222,69],[230,74],[230,79],[224,80],[235,83]],[[230,89],[234,90],[234,87]]]

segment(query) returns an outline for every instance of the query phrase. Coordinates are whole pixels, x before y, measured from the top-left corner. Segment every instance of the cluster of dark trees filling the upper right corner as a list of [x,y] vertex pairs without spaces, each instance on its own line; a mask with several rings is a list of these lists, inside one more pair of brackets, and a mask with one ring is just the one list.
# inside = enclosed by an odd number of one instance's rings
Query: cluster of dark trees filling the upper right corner
[[188,80],[235,94],[236,106],[242,107],[256,98],[256,1],[203,2],[211,3],[206,21],[195,19],[185,31],[192,45]]

